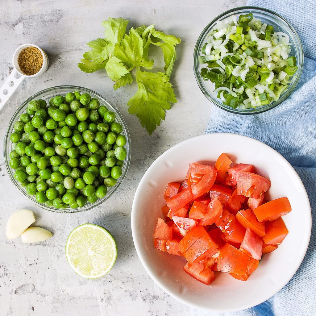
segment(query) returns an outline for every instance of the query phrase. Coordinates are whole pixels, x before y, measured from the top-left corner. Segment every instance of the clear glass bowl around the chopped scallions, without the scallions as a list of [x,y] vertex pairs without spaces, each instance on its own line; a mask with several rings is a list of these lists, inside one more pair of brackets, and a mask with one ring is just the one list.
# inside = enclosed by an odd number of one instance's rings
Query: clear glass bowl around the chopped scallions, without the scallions
[[[214,90],[214,83],[210,81],[204,81],[203,78],[200,76],[200,71],[202,68],[202,64],[199,63],[198,58],[201,56],[201,50],[206,42],[207,36],[216,24],[217,21],[226,19],[232,15],[237,15],[237,17],[241,14],[252,13],[254,17],[259,18],[261,21],[267,23],[268,25],[272,25],[276,32],[283,32],[289,35],[291,46],[291,55],[294,55],[297,60],[297,71],[295,73],[295,79],[289,84],[288,90],[283,93],[279,100],[273,101],[269,105],[258,106],[257,108],[251,109],[234,109],[230,106],[224,105],[221,99],[218,99],[217,96],[213,93]],[[286,21],[282,16],[278,15],[277,13],[270,11],[268,9],[262,9],[257,7],[239,7],[234,8],[224,13],[218,15],[214,20],[210,21],[210,23],[204,28],[202,33],[200,34],[197,43],[194,48],[193,53],[193,70],[194,75],[199,85],[200,89],[204,93],[204,95],[216,106],[224,109],[225,111],[236,113],[236,114],[257,114],[261,112],[268,111],[279,104],[281,104],[285,99],[287,99],[290,94],[294,91],[298,81],[300,80],[301,73],[303,70],[303,48],[301,44],[301,40],[298,37],[294,28]]]

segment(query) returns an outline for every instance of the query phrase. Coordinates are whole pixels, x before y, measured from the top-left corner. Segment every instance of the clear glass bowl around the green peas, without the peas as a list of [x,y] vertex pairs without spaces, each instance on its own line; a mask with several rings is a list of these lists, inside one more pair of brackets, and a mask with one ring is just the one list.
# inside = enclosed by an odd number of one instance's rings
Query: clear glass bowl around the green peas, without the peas
[[[32,101],[32,100],[38,100],[38,99],[43,99],[47,102],[47,104],[49,103],[49,100],[54,97],[55,95],[65,95],[68,92],[73,92],[73,91],[79,91],[81,94],[83,93],[88,93],[91,95],[92,98],[97,98],[100,101],[100,105],[104,105],[106,106],[109,110],[113,111],[116,114],[116,121],[121,124],[123,126],[123,132],[122,134],[124,134],[126,136],[127,142],[125,145],[126,148],[126,159],[124,161],[124,165],[122,167],[122,175],[119,177],[116,185],[108,188],[107,194],[105,197],[103,198],[99,198],[96,202],[94,203],[89,203],[87,201],[87,203],[81,207],[81,208],[75,208],[75,209],[71,209],[70,207],[65,208],[65,209],[57,209],[55,207],[52,206],[48,206],[46,204],[43,203],[39,203],[34,196],[30,196],[27,194],[27,192],[25,191],[25,188],[23,188],[19,182],[17,182],[14,179],[14,171],[13,169],[11,169],[9,167],[9,160],[10,160],[10,151],[11,149],[11,141],[10,141],[10,135],[13,132],[14,128],[13,125],[14,123],[19,119],[20,115],[22,113],[26,112],[27,109],[27,104]],[[106,201],[109,197],[111,197],[111,195],[118,189],[119,185],[121,184],[121,182],[123,181],[123,179],[125,178],[125,175],[127,173],[128,167],[130,165],[130,161],[131,161],[131,138],[130,138],[130,134],[128,132],[126,123],[121,115],[121,113],[108,101],[106,100],[103,96],[101,96],[100,94],[87,89],[87,88],[82,88],[82,87],[77,87],[77,86],[57,86],[57,87],[52,87],[52,88],[47,88],[44,89],[40,92],[37,92],[36,94],[32,95],[31,97],[29,97],[27,100],[25,100],[22,105],[17,109],[17,111],[14,113],[12,119],[10,120],[8,129],[6,131],[5,137],[4,137],[4,161],[5,161],[5,166],[7,169],[7,172],[9,174],[9,178],[11,179],[12,183],[15,185],[15,187],[18,189],[18,191],[23,194],[28,200],[30,200],[31,202],[39,205],[42,209],[45,210],[49,210],[49,211],[53,211],[53,212],[58,212],[58,213],[75,213],[75,212],[81,212],[81,211],[87,211],[90,210],[92,208],[94,208],[95,206],[100,205],[101,203],[103,203],[104,201]]]

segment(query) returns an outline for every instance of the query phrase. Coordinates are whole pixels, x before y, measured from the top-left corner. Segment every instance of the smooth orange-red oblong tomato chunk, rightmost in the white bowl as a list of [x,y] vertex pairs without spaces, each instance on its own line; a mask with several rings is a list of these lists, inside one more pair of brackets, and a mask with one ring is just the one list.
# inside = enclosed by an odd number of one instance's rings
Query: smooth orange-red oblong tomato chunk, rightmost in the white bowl
[[264,203],[253,210],[259,222],[274,221],[277,218],[288,214],[291,205],[287,197],[280,197],[276,200]]

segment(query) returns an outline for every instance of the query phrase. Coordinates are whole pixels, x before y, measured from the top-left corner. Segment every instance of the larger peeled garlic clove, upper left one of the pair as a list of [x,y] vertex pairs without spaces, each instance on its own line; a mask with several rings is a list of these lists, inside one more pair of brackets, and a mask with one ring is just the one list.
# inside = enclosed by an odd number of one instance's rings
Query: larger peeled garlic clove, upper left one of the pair
[[32,211],[22,209],[14,212],[7,222],[7,239],[19,237],[33,222],[35,216]]

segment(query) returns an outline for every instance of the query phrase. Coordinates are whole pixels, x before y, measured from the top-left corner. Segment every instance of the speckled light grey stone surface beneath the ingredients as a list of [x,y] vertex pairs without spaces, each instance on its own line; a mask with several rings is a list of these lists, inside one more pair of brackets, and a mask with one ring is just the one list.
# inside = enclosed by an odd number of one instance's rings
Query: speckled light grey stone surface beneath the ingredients
[[[190,315],[190,308],[161,290],[140,263],[131,236],[134,192],[150,164],[165,150],[204,133],[211,112],[192,70],[195,42],[204,26],[245,0],[1,0],[0,85],[12,70],[12,54],[24,43],[43,48],[49,57],[47,72],[26,79],[0,112],[0,151],[9,119],[27,97],[44,88],[72,84],[104,95],[123,114],[132,139],[129,172],[119,189],[104,204],[77,214],[56,214],[30,203],[18,193],[0,155],[0,315]],[[77,63],[89,40],[102,37],[101,21],[109,16],[130,19],[130,26],[155,23],[158,29],[179,36],[178,60],[172,82],[178,103],[166,121],[149,136],[126,102],[136,86],[114,91],[105,71],[81,72]],[[20,208],[34,211],[36,225],[54,236],[38,244],[7,241],[6,222]],[[83,223],[108,228],[118,241],[113,269],[99,280],[84,280],[68,266],[64,246],[70,231]]]

